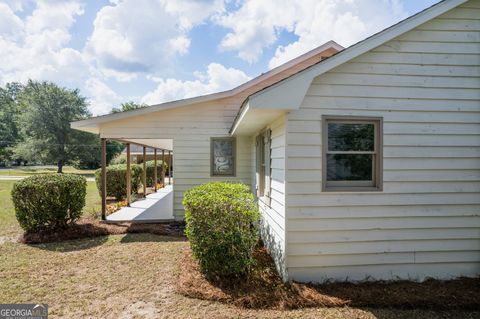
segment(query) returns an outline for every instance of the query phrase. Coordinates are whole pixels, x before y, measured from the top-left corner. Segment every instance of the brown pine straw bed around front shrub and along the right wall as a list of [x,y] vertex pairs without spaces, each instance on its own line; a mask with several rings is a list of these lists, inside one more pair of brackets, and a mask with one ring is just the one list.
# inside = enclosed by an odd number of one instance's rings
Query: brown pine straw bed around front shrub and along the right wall
[[376,281],[362,283],[284,284],[262,246],[255,250],[257,265],[247,279],[207,280],[184,252],[176,290],[197,299],[242,308],[299,309],[306,307],[378,307],[401,309],[480,309],[480,278],[448,281]]

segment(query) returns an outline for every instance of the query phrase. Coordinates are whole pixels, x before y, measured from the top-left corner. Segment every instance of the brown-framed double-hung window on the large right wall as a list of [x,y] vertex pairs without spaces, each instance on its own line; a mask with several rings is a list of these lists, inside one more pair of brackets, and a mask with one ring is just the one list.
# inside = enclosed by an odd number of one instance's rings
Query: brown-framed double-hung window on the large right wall
[[382,119],[324,117],[323,189],[382,188]]

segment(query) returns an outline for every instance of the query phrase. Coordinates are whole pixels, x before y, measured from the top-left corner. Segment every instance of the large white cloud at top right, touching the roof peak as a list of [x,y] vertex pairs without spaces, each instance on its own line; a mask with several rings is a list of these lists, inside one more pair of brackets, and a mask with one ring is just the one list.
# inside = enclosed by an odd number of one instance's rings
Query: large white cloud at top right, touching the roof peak
[[276,48],[273,68],[329,40],[349,46],[406,16],[398,0],[245,0],[216,21],[231,29],[220,49],[237,51],[250,63],[280,32],[296,35],[297,41]]

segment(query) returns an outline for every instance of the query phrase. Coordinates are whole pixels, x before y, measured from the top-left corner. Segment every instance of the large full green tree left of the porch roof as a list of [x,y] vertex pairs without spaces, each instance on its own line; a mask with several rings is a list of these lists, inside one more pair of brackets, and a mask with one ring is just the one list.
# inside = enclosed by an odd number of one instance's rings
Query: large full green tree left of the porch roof
[[90,116],[85,98],[50,82],[29,81],[18,96],[23,108],[19,117],[24,141],[15,155],[28,160],[56,162],[57,171],[82,158],[94,158],[98,138],[70,128],[70,122]]

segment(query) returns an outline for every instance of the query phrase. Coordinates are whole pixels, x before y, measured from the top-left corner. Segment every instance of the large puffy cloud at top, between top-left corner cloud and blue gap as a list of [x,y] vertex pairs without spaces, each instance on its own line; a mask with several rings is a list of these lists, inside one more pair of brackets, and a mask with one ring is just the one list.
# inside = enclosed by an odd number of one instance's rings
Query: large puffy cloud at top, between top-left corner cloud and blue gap
[[120,81],[161,73],[188,52],[188,31],[222,10],[218,0],[114,2],[97,13],[87,52],[105,75]]

